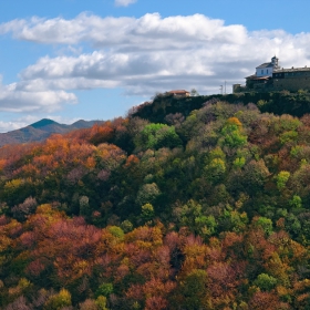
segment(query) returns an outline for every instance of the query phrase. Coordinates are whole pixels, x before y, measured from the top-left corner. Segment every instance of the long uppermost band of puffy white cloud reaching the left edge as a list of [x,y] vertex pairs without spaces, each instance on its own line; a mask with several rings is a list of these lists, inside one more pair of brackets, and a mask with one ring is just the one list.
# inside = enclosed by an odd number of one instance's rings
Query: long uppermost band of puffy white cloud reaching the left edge
[[90,42],[95,48],[126,48],[137,50],[169,49],[206,42],[245,42],[246,28],[239,24],[225,25],[223,20],[203,14],[162,18],[147,13],[136,18],[101,18],[81,13],[75,19],[13,20],[0,24],[0,33],[45,44],[76,44]]

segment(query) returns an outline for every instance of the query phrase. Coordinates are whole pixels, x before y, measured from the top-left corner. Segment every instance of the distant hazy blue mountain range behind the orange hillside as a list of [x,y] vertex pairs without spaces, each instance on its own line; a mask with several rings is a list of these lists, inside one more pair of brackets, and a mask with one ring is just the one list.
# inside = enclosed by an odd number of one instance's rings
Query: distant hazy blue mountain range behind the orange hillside
[[74,130],[89,128],[96,123],[103,123],[103,121],[80,120],[71,125],[65,125],[49,118],[43,118],[27,127],[0,134],[0,146],[3,146],[6,144],[43,141],[51,134],[64,134]]

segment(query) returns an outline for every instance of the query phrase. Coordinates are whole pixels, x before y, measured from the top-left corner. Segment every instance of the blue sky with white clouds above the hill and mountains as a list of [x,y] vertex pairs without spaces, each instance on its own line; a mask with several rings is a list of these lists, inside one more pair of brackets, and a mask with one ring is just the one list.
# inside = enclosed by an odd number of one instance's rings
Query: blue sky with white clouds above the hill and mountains
[[156,93],[227,93],[310,65],[308,0],[0,0],[0,132],[112,120]]

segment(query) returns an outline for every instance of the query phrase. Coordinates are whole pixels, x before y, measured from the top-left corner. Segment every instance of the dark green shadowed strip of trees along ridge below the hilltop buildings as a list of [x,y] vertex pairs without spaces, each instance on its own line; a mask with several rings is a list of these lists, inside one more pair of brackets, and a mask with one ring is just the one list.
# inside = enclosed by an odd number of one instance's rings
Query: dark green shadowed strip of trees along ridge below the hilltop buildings
[[134,106],[131,110],[131,114],[147,118],[153,123],[162,123],[164,120],[177,121],[180,115],[188,116],[193,110],[202,108],[206,101],[217,102],[219,100],[230,104],[255,103],[260,112],[278,115],[287,113],[301,117],[310,112],[310,92],[300,90],[294,93],[288,91],[248,92],[226,95],[198,95],[184,99],[175,97],[169,93],[158,94],[153,102],[145,102],[140,106]]

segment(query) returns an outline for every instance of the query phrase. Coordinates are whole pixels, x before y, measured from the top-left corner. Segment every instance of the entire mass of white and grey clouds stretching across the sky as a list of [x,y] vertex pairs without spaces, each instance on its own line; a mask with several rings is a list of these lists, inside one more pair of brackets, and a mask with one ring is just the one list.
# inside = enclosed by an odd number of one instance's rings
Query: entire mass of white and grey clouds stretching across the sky
[[283,66],[304,66],[310,61],[310,33],[249,32],[203,14],[32,18],[2,23],[0,33],[74,51],[85,44],[91,48],[87,53],[46,55],[22,70],[19,82],[1,86],[2,111],[56,110],[75,102],[70,91],[81,89],[122,87],[127,94],[147,96],[192,87],[215,93],[224,81],[242,82],[275,54]]

